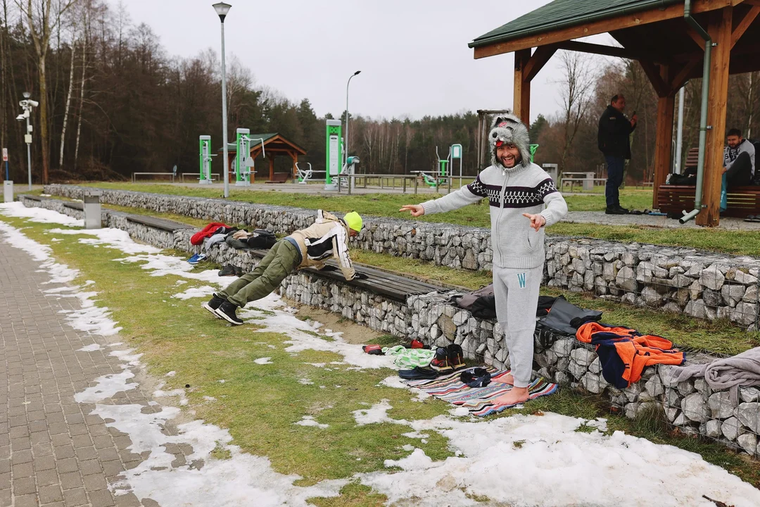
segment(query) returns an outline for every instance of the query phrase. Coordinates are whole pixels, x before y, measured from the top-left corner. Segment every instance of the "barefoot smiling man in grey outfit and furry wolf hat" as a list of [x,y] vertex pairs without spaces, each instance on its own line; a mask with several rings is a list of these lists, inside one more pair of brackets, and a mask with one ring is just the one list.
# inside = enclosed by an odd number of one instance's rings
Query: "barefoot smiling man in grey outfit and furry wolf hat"
[[462,208],[488,198],[491,212],[493,288],[496,316],[505,330],[514,385],[496,398],[499,405],[527,401],[533,370],[536,307],[543,276],[543,227],[565,217],[568,208],[551,176],[530,162],[527,128],[513,115],[494,119],[489,143],[492,165],[470,185],[442,198],[408,204],[413,217]]

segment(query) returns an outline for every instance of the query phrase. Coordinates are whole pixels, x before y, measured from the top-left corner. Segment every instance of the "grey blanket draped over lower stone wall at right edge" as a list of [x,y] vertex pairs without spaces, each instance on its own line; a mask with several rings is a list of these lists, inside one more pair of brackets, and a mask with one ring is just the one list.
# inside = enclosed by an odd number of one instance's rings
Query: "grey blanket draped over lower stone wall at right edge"
[[731,389],[731,397],[738,398],[739,386],[760,385],[760,347],[746,350],[733,357],[717,359],[712,363],[679,366],[671,369],[673,382],[692,377],[705,377],[714,391]]

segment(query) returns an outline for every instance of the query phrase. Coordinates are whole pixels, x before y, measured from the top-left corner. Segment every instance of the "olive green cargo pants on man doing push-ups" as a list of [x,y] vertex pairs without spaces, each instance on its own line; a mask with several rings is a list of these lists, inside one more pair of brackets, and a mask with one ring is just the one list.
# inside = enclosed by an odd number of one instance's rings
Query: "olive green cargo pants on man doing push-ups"
[[266,297],[293,272],[299,258],[296,246],[287,239],[280,239],[253,271],[239,277],[218,296],[241,308],[249,301]]

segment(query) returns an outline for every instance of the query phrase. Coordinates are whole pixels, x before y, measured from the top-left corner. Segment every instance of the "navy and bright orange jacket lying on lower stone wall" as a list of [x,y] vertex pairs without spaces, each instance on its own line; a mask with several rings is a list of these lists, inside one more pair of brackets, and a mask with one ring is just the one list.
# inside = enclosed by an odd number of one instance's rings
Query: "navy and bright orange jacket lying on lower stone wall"
[[638,382],[647,366],[686,362],[686,353],[674,349],[671,341],[631,328],[587,322],[578,328],[575,336],[594,345],[604,379],[619,389]]

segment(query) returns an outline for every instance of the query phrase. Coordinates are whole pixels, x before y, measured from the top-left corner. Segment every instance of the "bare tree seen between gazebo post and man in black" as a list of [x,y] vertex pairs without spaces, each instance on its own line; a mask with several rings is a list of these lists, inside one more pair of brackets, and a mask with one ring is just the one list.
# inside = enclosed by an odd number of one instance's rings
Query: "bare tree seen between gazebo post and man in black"
[[562,51],[559,53],[559,62],[563,74],[560,81],[563,87],[559,91],[562,97],[561,118],[565,126],[564,146],[559,160],[559,171],[562,173],[575,135],[578,134],[578,127],[593,98],[597,72],[591,57],[580,52]]

